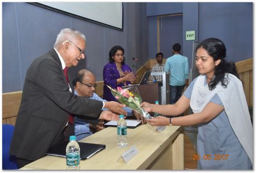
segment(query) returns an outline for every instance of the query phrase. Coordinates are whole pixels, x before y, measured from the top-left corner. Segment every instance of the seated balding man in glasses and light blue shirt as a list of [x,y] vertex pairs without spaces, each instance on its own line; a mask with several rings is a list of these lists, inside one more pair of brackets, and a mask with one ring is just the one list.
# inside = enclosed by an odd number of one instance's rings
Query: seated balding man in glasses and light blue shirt
[[[77,72],[75,80],[73,80],[73,86],[75,88],[75,95],[106,101],[94,92],[96,88],[95,76],[88,70],[83,69]],[[131,108],[124,107],[124,110],[127,112],[127,116],[132,115],[131,112],[133,111]],[[101,113],[100,119],[104,119],[104,115],[104,113]],[[98,120],[84,120],[75,116],[75,135],[77,141],[93,134],[93,132],[102,130],[104,128],[103,124],[104,122],[99,122]]]

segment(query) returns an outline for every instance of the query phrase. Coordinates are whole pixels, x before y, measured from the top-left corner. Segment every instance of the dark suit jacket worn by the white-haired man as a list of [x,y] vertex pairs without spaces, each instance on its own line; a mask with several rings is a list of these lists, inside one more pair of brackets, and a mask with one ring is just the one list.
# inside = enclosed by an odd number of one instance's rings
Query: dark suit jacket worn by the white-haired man
[[[72,82],[70,85],[73,89]],[[102,106],[101,101],[69,91],[61,61],[52,49],[27,70],[10,154],[31,161],[40,159],[63,139],[69,113],[97,119]]]

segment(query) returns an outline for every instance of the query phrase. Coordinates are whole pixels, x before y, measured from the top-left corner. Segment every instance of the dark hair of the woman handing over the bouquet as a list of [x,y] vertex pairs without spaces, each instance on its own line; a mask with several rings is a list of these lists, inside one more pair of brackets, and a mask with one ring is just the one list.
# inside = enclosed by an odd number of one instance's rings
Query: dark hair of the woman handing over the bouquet
[[228,79],[225,78],[225,73],[231,73],[239,78],[235,64],[224,60],[226,57],[226,47],[220,39],[205,39],[198,45],[198,47],[196,47],[196,51],[200,47],[203,47],[208,52],[208,55],[213,57],[214,61],[220,60],[219,65],[215,67],[215,77],[208,83],[210,90],[213,90],[219,82],[221,82],[221,85],[224,86],[224,88],[227,87]]

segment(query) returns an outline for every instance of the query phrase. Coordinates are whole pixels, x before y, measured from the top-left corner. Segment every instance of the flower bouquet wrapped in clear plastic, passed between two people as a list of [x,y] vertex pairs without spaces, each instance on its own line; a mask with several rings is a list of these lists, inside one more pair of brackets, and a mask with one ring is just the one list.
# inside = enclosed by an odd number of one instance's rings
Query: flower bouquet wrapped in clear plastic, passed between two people
[[121,87],[117,87],[117,90],[111,88],[108,85],[107,87],[110,88],[112,95],[116,98],[117,101],[126,105],[127,107],[132,108],[132,110],[139,112],[142,116],[144,116],[144,118],[146,119],[151,118],[149,113],[147,113],[142,109],[142,107],[140,107],[142,98],[136,87],[129,87],[125,89],[122,89]]

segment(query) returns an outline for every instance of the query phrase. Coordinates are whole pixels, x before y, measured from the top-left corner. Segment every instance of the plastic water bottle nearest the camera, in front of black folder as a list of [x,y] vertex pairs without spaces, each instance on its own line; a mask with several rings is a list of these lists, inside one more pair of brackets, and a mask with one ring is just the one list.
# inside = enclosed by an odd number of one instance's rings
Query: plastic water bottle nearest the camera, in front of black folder
[[76,142],[76,136],[70,136],[70,142],[66,147],[67,170],[80,170],[80,147]]

